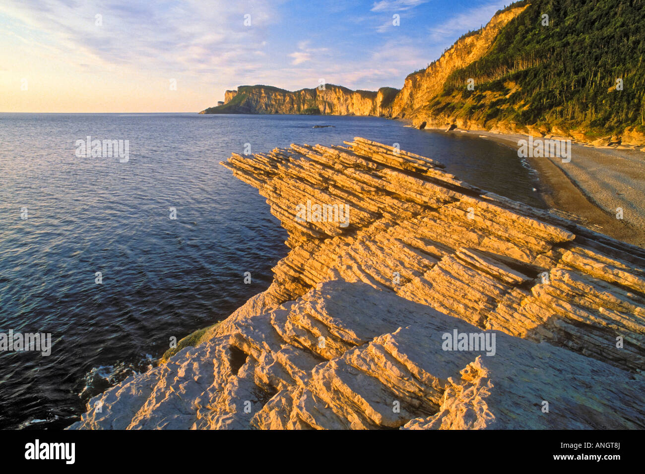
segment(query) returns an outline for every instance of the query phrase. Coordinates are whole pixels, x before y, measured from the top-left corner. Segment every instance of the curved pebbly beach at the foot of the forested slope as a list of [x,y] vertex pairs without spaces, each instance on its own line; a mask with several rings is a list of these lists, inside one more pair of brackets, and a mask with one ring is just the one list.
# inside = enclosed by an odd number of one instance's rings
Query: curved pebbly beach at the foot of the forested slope
[[[439,130],[440,129],[428,129]],[[518,149],[526,135],[452,130]],[[645,248],[645,153],[615,147],[571,144],[571,161],[527,158],[539,173],[541,195],[553,209],[573,214],[585,226]],[[622,208],[623,219],[617,219]]]

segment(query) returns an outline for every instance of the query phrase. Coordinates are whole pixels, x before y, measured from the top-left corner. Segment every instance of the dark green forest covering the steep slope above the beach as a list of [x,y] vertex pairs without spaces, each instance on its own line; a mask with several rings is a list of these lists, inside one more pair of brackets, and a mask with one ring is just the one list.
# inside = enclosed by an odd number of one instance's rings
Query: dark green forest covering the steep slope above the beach
[[[508,8],[526,5],[526,1]],[[542,14],[549,25],[542,25]],[[479,61],[453,72],[441,95],[491,110],[464,114],[613,133],[645,126],[645,0],[533,0]],[[468,34],[466,34],[468,35]],[[622,79],[623,90],[616,90]],[[508,95],[508,97],[507,97]],[[443,101],[441,101],[443,102]],[[436,113],[440,104],[430,105]],[[494,109],[494,110],[493,110]]]

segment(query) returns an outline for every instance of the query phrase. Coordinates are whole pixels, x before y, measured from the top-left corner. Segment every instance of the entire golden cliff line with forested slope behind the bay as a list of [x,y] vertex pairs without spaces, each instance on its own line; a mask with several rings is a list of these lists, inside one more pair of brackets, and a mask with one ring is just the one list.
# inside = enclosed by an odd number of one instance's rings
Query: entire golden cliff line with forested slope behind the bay
[[642,148],[642,8],[642,0],[522,0],[408,75],[400,91],[241,86],[226,91],[223,106],[201,113],[377,115],[418,128]]

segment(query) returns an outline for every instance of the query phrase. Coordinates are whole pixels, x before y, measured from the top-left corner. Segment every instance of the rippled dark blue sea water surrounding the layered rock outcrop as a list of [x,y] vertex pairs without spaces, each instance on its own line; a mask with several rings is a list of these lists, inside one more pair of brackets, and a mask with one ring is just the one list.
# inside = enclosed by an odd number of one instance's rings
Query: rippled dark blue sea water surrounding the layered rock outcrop
[[[128,139],[130,160],[77,157],[75,141],[87,135]],[[68,426],[90,397],[154,364],[170,337],[223,319],[268,287],[286,232],[219,161],[245,143],[266,152],[357,135],[541,205],[510,148],[385,119],[0,114],[0,333],[52,333],[53,342],[50,357],[0,352],[0,428]]]

